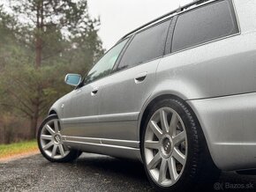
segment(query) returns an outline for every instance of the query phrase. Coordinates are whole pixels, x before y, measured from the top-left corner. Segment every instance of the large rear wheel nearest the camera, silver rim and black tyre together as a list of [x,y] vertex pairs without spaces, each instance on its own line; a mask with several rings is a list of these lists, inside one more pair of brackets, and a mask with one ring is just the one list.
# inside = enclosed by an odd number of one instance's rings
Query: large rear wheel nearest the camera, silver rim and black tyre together
[[209,183],[220,174],[199,122],[181,101],[155,103],[141,140],[147,177],[158,191],[192,191],[200,182]]

